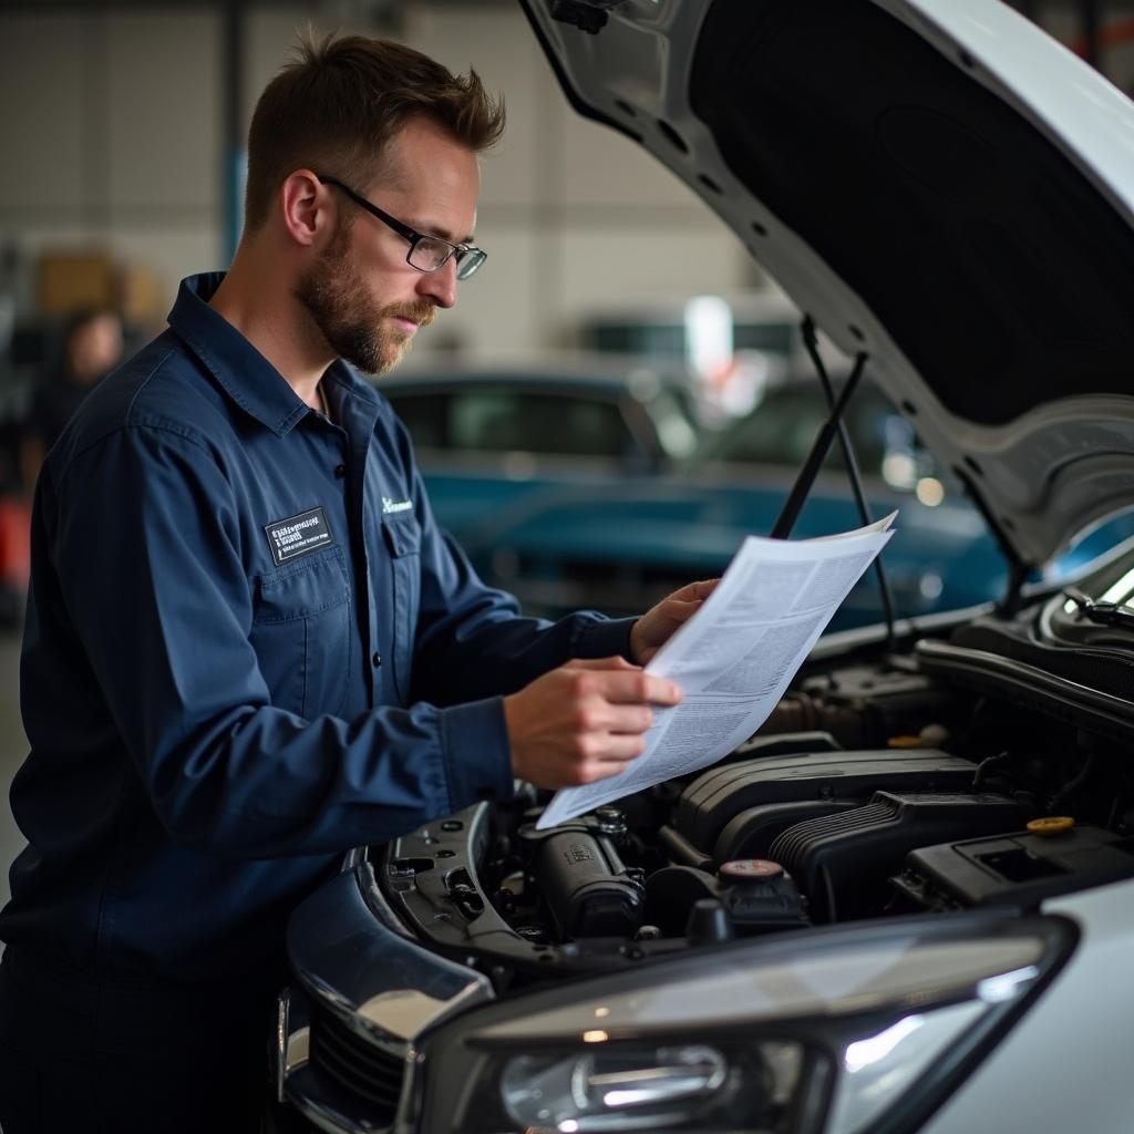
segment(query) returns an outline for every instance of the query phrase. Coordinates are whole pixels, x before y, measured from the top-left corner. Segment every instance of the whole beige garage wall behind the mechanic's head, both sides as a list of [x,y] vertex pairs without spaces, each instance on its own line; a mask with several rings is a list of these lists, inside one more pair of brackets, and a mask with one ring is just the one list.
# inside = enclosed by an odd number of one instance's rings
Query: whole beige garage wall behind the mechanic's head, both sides
[[[245,122],[306,22],[299,8],[249,12]],[[509,111],[483,163],[491,259],[439,322],[445,339],[474,354],[562,345],[589,310],[758,278],[688,189],[569,110],[517,10],[406,5],[400,29],[452,69],[475,66]],[[108,245],[156,270],[169,297],[218,266],[221,36],[208,10],[0,15],[0,245],[25,268],[41,248]]]

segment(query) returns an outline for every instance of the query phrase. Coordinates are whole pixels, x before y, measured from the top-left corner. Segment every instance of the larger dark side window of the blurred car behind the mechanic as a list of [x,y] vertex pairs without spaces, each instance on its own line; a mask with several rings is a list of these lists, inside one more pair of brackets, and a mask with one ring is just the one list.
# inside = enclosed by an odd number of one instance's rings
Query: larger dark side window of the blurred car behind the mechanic
[[449,401],[449,446],[620,458],[635,442],[618,406],[578,395],[469,390]]

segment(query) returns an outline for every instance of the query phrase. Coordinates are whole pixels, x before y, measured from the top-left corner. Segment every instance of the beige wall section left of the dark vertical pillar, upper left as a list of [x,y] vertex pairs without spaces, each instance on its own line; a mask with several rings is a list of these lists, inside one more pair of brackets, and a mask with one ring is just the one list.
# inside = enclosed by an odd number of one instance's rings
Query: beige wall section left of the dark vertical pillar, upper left
[[219,58],[210,14],[0,18],[0,240],[213,262]]

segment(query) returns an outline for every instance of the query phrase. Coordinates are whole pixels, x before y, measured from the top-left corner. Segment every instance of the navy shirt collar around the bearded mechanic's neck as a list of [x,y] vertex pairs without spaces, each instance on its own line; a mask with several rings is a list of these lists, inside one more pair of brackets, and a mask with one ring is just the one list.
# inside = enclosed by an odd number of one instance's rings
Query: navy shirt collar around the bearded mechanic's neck
[[[223,272],[203,272],[181,280],[169,325],[238,406],[284,437],[313,411],[284,375],[223,315],[209,306],[223,278]],[[333,378],[344,393],[378,407],[378,396],[342,359],[331,364],[327,376]]]

